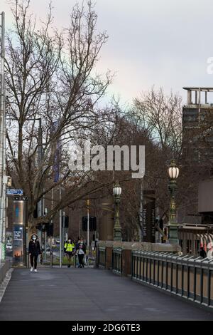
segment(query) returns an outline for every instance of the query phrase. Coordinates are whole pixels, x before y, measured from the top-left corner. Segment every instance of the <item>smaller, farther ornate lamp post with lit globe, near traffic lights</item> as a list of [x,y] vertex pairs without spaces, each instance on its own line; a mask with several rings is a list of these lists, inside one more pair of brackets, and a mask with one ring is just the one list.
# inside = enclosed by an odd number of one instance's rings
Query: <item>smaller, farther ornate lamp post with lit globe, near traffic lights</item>
[[116,182],[113,187],[115,213],[114,213],[114,241],[121,241],[121,225],[119,221],[119,203],[121,199],[121,186]]

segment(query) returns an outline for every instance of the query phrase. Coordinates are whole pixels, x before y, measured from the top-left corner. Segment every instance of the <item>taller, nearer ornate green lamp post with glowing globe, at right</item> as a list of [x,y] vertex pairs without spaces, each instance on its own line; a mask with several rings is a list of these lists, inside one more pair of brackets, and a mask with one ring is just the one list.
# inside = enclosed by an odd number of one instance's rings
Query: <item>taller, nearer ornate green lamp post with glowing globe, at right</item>
[[170,167],[168,168],[168,177],[170,178],[169,190],[170,190],[170,212],[169,212],[169,241],[170,243],[178,243],[178,222],[176,216],[176,202],[175,193],[177,190],[177,179],[179,175],[179,169],[172,160]]

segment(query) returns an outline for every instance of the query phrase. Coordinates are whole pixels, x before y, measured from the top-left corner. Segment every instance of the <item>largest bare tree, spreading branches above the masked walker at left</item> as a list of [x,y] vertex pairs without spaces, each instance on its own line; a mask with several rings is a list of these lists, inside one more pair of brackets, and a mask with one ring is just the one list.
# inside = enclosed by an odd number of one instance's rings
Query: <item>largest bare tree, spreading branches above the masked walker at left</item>
[[[7,168],[13,185],[29,197],[29,225],[33,227],[109,185],[92,177],[92,172],[70,171],[67,163],[70,144],[92,136],[97,125],[109,122],[109,115],[97,109],[96,103],[112,76],[93,71],[107,33],[97,33],[91,1],[72,9],[70,27],[61,32],[53,29],[51,5],[47,20],[40,24],[31,14],[30,0],[11,2],[11,11],[13,29],[6,37]],[[55,182],[58,164],[60,177]],[[59,185],[63,187],[61,200],[45,219],[35,220],[38,202]]]

